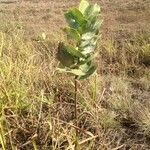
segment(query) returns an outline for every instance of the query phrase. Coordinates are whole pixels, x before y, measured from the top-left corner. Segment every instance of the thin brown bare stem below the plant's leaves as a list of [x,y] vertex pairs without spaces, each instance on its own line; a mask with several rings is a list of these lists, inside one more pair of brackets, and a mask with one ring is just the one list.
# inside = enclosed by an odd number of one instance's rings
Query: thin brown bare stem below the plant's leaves
[[[74,79],[74,89],[75,89],[75,93],[74,93],[74,100],[75,100],[75,126],[78,127],[78,112],[77,112],[77,76],[75,76]],[[76,141],[75,141],[75,150],[77,150],[78,148],[78,129],[76,128]]]

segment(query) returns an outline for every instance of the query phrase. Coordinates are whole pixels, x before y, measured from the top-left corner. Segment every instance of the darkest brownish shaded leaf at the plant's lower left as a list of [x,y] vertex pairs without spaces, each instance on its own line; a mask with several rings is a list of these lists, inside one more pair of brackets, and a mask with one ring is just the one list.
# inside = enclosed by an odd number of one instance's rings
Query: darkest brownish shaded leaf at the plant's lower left
[[70,67],[75,63],[74,57],[69,52],[67,52],[64,43],[59,43],[57,59],[63,66],[66,67]]

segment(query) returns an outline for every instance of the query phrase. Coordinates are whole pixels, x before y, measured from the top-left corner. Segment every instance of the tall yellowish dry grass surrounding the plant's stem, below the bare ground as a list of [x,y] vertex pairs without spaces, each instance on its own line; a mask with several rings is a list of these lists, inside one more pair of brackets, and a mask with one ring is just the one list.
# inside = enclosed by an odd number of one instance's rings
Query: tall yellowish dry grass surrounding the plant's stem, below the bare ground
[[[122,50],[110,40],[99,46],[100,74],[79,84],[80,149],[149,149],[150,71],[141,61],[143,54],[137,53],[149,43],[147,38],[141,40],[142,46],[128,41]],[[3,150],[74,149],[73,83],[55,72],[58,39],[53,41],[51,37],[32,40],[18,22],[1,24]],[[123,50],[127,51],[120,55]]]

